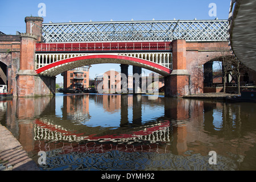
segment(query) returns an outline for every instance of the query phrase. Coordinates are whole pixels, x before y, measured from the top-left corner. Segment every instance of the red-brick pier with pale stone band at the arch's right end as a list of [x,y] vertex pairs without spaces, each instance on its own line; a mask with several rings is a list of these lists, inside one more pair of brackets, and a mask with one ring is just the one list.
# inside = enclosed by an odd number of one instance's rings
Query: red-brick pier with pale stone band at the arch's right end
[[181,97],[189,94],[185,40],[172,42],[172,73],[164,78],[165,96]]

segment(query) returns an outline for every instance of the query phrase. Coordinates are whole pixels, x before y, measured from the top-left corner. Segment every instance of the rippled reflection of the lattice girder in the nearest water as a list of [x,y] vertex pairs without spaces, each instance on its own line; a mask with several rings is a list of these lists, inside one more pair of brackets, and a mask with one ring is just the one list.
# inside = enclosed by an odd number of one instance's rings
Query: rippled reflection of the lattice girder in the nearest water
[[116,171],[116,170],[191,170],[191,171],[230,171],[237,169],[234,160],[225,156],[217,156],[218,164],[209,165],[208,156],[188,154],[179,156],[171,153],[141,151],[129,152],[124,150],[103,151],[101,146],[96,146],[100,152],[73,151],[64,153],[63,148],[47,151],[47,165],[41,165],[43,170],[72,170],[72,171]]

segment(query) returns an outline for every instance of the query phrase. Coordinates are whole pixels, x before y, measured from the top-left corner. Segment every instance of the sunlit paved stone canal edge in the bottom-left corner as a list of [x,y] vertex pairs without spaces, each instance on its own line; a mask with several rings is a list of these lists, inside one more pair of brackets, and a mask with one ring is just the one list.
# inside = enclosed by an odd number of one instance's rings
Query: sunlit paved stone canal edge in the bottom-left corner
[[0,124],[0,171],[40,171],[11,132]]

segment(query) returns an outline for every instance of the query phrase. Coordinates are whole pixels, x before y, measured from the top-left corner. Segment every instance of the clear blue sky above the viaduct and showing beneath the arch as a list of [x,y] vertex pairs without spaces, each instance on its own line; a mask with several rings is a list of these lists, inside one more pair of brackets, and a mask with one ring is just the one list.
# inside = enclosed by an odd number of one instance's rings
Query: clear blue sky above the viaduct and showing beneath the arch
[[[217,18],[228,19],[230,0],[63,0],[63,1],[1,1],[0,3],[0,31],[5,34],[15,35],[16,31],[25,32],[24,18],[26,16],[38,16],[39,3],[46,5],[46,16],[43,23],[69,22],[93,22],[109,20],[172,20],[172,19],[215,19],[209,16],[210,3],[217,7]],[[129,72],[132,67],[129,68]],[[119,71],[118,64],[92,65],[90,77],[97,73],[104,73],[110,69]],[[149,73],[149,71],[146,73]],[[63,82],[61,76],[57,76],[56,82]]]

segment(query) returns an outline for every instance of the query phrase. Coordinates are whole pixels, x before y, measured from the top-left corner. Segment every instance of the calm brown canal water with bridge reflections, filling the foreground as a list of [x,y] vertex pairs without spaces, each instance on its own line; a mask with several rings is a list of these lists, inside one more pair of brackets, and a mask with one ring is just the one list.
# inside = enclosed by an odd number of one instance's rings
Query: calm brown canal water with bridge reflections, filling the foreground
[[0,121],[42,170],[256,170],[255,106],[57,93],[1,100]]

